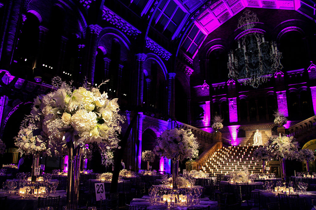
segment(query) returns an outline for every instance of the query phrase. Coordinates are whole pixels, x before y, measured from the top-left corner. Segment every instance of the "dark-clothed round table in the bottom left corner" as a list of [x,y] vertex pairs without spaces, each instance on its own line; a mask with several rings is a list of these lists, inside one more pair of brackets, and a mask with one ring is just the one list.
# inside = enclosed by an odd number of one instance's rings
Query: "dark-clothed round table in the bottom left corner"
[[[58,191],[58,190],[57,190]],[[59,207],[62,209],[63,206],[66,206],[66,192],[64,190],[59,190],[62,192],[51,193],[49,197],[60,196]],[[0,192],[0,196],[7,196],[4,192]],[[8,196],[6,207],[3,209],[19,209],[19,210],[36,210],[38,205],[38,197],[30,197],[22,199],[22,196]]]

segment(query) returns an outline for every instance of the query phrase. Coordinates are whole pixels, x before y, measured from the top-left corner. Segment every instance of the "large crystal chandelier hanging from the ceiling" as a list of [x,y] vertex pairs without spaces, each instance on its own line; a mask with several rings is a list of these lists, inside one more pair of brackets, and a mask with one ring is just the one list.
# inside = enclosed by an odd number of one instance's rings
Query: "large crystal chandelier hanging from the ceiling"
[[244,30],[246,35],[238,40],[235,52],[231,50],[228,53],[228,77],[258,88],[283,68],[280,63],[282,54],[277,50],[276,42],[266,42],[263,34],[251,32],[258,23],[257,15],[249,10],[243,14],[238,21],[238,28]]

